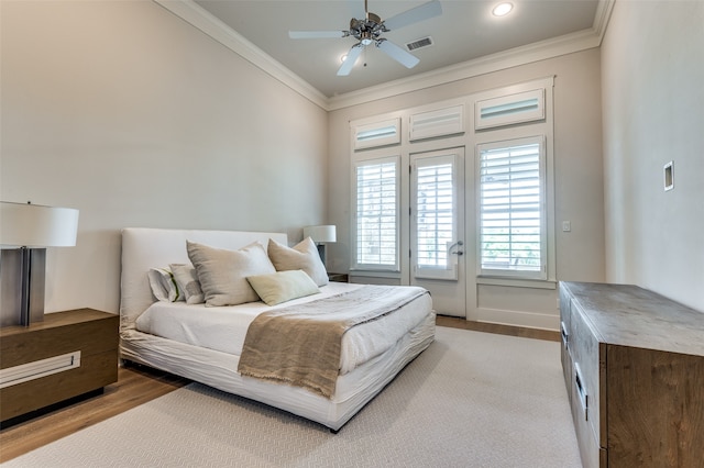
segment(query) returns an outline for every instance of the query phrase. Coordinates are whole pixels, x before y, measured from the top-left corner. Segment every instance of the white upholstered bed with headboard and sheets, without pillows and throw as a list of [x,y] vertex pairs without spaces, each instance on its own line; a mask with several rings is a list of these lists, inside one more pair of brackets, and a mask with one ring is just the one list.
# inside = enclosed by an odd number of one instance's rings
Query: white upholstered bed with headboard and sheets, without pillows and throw
[[[243,377],[237,369],[246,326],[257,313],[270,308],[255,302],[238,305],[240,312],[233,313],[235,308],[167,302],[155,304],[147,271],[169,264],[188,263],[185,248],[187,239],[217,248],[238,249],[252,242],[265,245],[270,238],[282,245],[287,244],[286,234],[282,233],[140,227],[123,230],[120,278],[121,357],[124,361],[163,369],[271,404],[337,431],[432,343],[435,312],[430,297],[424,294],[411,304],[406,304],[400,313],[384,317],[388,321],[387,326],[378,327],[364,337],[351,334],[346,338],[342,349],[344,374],[338,377],[336,392],[330,399],[300,387]],[[322,288],[320,297],[358,287],[331,283]],[[314,298],[315,296],[301,298],[279,307]],[[206,314],[209,321],[202,322]],[[169,315],[170,319],[167,319]],[[178,315],[186,315],[188,320],[179,324]],[[397,320],[402,322],[394,322]],[[374,322],[380,324],[380,320]],[[146,330],[150,332],[145,332]],[[409,331],[404,333],[402,330]],[[169,337],[163,337],[162,334]],[[395,338],[397,334],[400,336],[398,339]],[[391,346],[387,346],[389,343]],[[381,352],[382,349],[385,350]],[[363,361],[364,364],[360,364]]]

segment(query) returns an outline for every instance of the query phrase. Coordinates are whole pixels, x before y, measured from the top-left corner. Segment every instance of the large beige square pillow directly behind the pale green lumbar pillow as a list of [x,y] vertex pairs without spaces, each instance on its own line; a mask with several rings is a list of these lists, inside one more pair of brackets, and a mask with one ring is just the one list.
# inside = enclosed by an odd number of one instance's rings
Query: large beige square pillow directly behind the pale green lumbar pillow
[[246,278],[276,272],[260,243],[239,250],[215,248],[186,241],[188,258],[196,267],[206,305],[237,305],[260,300]]

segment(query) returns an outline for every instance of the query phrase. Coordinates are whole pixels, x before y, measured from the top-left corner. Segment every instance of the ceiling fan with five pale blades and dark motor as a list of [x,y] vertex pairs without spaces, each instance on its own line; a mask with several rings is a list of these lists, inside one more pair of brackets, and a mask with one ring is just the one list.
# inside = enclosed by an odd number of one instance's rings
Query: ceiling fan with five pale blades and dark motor
[[289,31],[288,36],[290,38],[329,38],[348,36],[356,38],[359,42],[350,48],[342,66],[338,69],[338,76],[350,75],[354,63],[362,54],[364,47],[371,44],[374,44],[382,52],[404,65],[406,68],[415,67],[418,62],[420,62],[418,57],[404,51],[393,42],[382,37],[382,33],[397,30],[442,14],[440,1],[429,1],[384,21],[382,21],[378,15],[369,11],[366,1],[367,0],[364,0],[364,19],[358,20],[353,18],[350,20],[350,29],[348,31]]

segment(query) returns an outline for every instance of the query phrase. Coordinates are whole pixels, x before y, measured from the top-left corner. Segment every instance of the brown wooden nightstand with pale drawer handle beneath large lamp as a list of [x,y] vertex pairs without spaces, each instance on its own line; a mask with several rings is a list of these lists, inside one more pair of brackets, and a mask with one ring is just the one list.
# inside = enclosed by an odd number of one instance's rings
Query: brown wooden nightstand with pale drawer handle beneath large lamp
[[0,328],[0,421],[116,382],[119,323],[119,315],[78,309]]

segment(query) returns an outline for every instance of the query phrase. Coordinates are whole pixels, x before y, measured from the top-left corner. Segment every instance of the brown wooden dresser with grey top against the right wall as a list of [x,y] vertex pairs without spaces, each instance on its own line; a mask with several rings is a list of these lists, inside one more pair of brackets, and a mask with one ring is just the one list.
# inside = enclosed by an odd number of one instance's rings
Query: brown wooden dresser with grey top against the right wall
[[704,467],[704,313],[626,285],[560,283],[584,467]]

